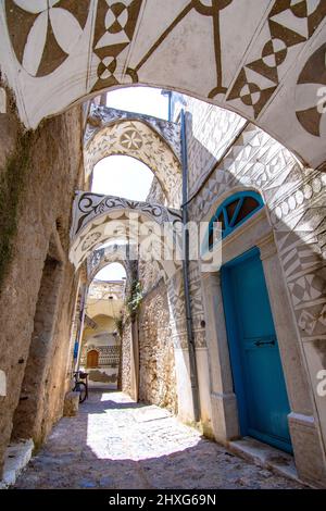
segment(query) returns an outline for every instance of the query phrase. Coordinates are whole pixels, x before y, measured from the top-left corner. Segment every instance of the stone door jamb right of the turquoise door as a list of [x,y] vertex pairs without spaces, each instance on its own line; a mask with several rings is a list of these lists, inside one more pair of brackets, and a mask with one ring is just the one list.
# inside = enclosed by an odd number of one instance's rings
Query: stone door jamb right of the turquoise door
[[293,311],[273,233],[258,242],[291,412],[288,415],[296,465],[305,481],[326,483],[322,438],[310,396],[310,383],[303,365]]

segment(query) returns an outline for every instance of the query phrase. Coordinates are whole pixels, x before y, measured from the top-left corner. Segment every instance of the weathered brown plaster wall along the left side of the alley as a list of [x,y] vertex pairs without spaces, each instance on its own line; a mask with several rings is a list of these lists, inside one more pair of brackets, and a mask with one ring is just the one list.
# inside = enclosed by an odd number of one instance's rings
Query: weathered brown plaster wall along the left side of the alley
[[[23,132],[13,101],[8,100],[7,113],[0,114],[0,236],[7,240],[0,253],[0,369],[8,389],[7,396],[0,397],[0,469],[10,438],[15,437],[13,415],[18,403],[24,402],[26,420],[35,417],[33,431],[26,431],[21,415],[20,429],[24,435],[33,434],[37,445],[62,414],[76,294],[74,270],[67,260],[68,230],[74,190],[83,182],[80,142],[79,107],[45,121],[33,133]],[[47,341],[43,338],[43,351],[39,345],[29,352],[37,329],[37,303],[53,284],[48,279],[39,295],[47,258],[54,258],[60,269],[54,291],[60,307],[50,321]],[[40,332],[46,315],[46,308],[42,315],[40,307]],[[28,395],[28,385],[26,395],[24,388],[21,391],[27,364],[30,374],[41,365],[37,404]]]

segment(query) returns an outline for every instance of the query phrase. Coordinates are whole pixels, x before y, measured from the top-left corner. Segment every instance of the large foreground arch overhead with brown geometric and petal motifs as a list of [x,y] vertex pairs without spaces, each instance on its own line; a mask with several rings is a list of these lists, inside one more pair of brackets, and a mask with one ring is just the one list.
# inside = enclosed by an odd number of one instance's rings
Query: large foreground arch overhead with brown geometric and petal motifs
[[28,127],[98,91],[147,84],[235,110],[313,166],[325,160],[325,0],[3,0],[0,9],[1,71]]

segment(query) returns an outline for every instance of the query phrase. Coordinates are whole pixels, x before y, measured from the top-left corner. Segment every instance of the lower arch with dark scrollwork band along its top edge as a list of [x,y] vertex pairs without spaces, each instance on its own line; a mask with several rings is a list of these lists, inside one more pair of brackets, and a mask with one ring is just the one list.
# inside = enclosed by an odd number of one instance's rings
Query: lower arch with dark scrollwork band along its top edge
[[180,211],[161,204],[77,191],[70,260],[77,269],[101,245],[124,239],[133,247],[141,247],[134,257],[143,258],[151,252],[162,263],[165,274],[172,276],[175,251],[181,253],[180,222]]

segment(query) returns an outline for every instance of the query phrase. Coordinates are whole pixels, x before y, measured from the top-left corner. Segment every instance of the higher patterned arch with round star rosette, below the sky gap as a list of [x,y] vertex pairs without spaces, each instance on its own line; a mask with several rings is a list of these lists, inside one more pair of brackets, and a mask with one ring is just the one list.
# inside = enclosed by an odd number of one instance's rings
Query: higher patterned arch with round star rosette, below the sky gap
[[[115,114],[113,119],[112,113]],[[114,112],[112,109],[92,110],[91,124],[88,123],[86,132],[88,140],[84,148],[86,175],[105,157],[124,154],[136,158],[148,165],[156,176],[168,205],[178,207],[181,201],[181,169],[179,159],[172,149],[173,145],[179,153],[178,125],[162,121],[161,128],[158,129],[159,120],[154,123],[154,117],[146,121],[146,115],[137,119],[135,114],[133,119],[130,114],[123,114],[127,112]]]

